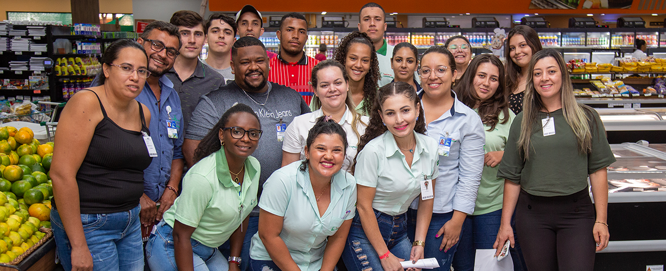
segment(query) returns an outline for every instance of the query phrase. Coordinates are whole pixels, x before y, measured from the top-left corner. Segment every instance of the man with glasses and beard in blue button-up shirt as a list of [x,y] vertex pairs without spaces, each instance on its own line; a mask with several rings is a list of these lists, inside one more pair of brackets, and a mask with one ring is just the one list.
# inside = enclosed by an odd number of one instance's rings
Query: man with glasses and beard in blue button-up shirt
[[[184,166],[182,142],[182,109],[180,97],[166,72],[173,67],[180,52],[178,28],[164,21],[154,21],[146,26],[137,42],[143,45],[148,56],[148,70],[151,76],[135,100],[151,111],[149,130],[157,156],[143,171],[143,191],[141,204],[141,230],[145,230],[162,219],[162,214],[173,205],[178,195],[178,184]],[[113,63],[107,63],[113,65]],[[98,74],[91,86],[99,86]],[[158,98],[159,97],[159,98]],[[155,204],[160,203],[159,209]],[[150,232],[150,231],[149,231]]]

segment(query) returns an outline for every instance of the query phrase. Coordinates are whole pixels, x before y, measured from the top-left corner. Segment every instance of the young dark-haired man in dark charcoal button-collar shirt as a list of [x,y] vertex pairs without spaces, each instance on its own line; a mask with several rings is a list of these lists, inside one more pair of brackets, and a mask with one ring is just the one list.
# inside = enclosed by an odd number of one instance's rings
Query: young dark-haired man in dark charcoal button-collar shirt
[[[212,19],[212,21],[215,21],[215,19]],[[171,16],[170,23],[178,27],[182,47],[173,68],[166,73],[166,77],[174,84],[174,89],[180,96],[183,115],[182,130],[186,131],[187,124],[192,117],[192,111],[196,108],[199,98],[211,90],[224,86],[224,76],[199,60],[199,54],[204,42],[206,42],[206,27],[204,26],[204,19],[198,13],[194,11],[176,11]],[[216,30],[213,32],[217,33]],[[210,45],[210,42],[208,44]],[[229,66],[231,60],[230,48],[231,45],[228,46],[226,54],[224,54],[227,66]],[[210,50],[212,52],[212,48]],[[231,72],[229,74],[232,75]],[[229,78],[231,77],[229,76]]]

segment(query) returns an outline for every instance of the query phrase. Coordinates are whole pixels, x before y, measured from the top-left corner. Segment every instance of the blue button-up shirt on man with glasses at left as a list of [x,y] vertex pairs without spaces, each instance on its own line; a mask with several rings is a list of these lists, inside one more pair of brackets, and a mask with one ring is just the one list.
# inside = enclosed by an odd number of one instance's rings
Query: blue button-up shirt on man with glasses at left
[[[155,93],[151,90],[148,82],[137,96],[137,101],[145,104],[151,111],[151,124],[149,130],[157,157],[147,169],[143,171],[143,192],[153,201],[158,201],[165,191],[166,182],[171,176],[171,162],[175,159],[182,159],[182,140],[184,132],[182,130],[182,110],[180,108],[180,98],[178,92],[173,89],[173,83],[162,76],[159,80],[162,87],[162,94],[158,104]],[[168,112],[167,107],[171,112]],[[176,121],[176,130],[178,138],[169,138],[166,131],[166,121]]]

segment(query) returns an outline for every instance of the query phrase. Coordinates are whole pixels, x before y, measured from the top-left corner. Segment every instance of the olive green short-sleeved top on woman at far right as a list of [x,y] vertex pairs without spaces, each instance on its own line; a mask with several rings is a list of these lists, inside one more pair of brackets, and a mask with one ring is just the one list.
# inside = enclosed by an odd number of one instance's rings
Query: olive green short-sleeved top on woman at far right
[[523,114],[518,114],[511,124],[498,177],[519,184],[530,195],[541,197],[571,195],[585,189],[587,175],[615,162],[599,114],[591,108],[585,108],[585,111],[592,130],[590,153],[578,151],[575,134],[560,109],[550,112],[549,116],[555,120],[555,134],[545,137],[541,120],[547,114],[539,112],[527,161],[517,148],[523,120]]

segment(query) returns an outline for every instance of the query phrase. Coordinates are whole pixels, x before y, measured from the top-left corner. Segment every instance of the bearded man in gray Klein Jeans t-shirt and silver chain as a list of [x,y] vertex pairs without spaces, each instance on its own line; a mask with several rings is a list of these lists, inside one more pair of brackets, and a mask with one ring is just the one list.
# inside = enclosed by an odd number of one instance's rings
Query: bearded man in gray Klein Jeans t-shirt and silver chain
[[[252,156],[259,160],[259,195],[268,177],[282,164],[284,130],[294,117],[310,112],[298,92],[268,82],[268,56],[266,48],[254,37],[242,37],[231,48],[231,66],[234,81],[201,96],[185,133],[183,153],[188,167],[193,164],[194,149],[201,139],[220,120],[222,114],[236,103],[250,106],[257,114],[263,134]],[[258,228],[258,208],[252,211],[245,232],[241,252],[241,269],[246,270],[250,260],[250,240]],[[230,262],[229,264],[233,264]],[[231,268],[230,268],[231,269]]]

